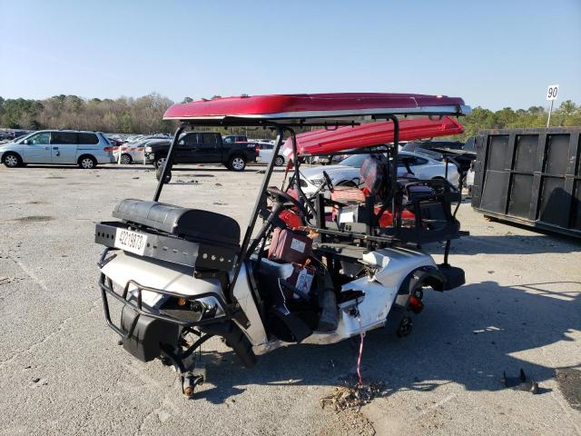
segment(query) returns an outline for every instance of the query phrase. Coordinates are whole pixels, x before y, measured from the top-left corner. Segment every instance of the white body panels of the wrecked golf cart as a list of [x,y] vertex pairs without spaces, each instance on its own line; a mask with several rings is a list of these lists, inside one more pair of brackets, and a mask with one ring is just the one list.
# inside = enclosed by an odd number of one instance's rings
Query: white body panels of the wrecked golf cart
[[[335,332],[313,332],[304,343],[334,343],[359,334],[361,329],[369,331],[381,327],[387,317],[401,283],[410,272],[422,266],[436,266],[426,253],[404,248],[386,248],[363,255],[363,263],[379,267],[372,277],[361,277],[342,286],[342,291],[361,291],[359,300],[340,304],[339,326]],[[101,271],[122,288],[133,280],[143,286],[181,293],[184,296],[202,292],[217,292],[222,295],[220,282],[213,279],[202,280],[193,277],[193,268],[176,263],[155,261],[132,254],[118,252],[116,257],[106,263]],[[244,264],[234,286],[234,296],[241,304],[251,325],[242,332],[252,343],[254,352],[263,354],[279,346],[282,342],[268,342],[264,325],[261,322],[256,303],[251,294],[247,270]],[[143,291],[143,303],[155,307],[161,302],[162,295],[156,292]],[[209,305],[216,304],[212,297],[201,300]],[[359,313],[354,316],[351,312]],[[217,314],[222,314],[220,311]],[[360,318],[360,323],[359,323]]]

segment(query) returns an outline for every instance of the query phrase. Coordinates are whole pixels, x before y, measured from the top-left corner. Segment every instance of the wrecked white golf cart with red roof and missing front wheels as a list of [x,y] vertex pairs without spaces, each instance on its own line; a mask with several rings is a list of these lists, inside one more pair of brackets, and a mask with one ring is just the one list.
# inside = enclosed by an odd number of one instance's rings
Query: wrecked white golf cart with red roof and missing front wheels
[[[452,210],[460,193],[446,180],[399,176],[398,116],[439,120],[468,112],[460,98],[420,94],[263,95],[172,105],[164,119],[182,124],[153,201],[123,200],[113,211],[119,221],[96,225],[95,241],[106,247],[99,286],[107,323],[136,358],[172,364],[187,396],[205,379],[197,351],[212,336],[251,367],[257,354],[285,342],[339,342],[384,325],[409,334],[409,314],[421,311],[424,288],[445,291],[465,279],[448,264],[450,241],[461,233]],[[317,193],[302,192],[300,163],[310,154],[297,148],[296,128],[386,122],[393,124],[393,144],[373,154],[365,147],[333,150],[369,154],[363,190],[334,187],[326,177]],[[275,156],[288,135],[294,155],[282,189],[270,185],[274,164],[268,164],[242,240],[229,216],[159,202],[180,134],[230,126],[273,129]],[[325,147],[317,153],[332,154]],[[420,249],[437,241],[446,242],[439,265]],[[112,320],[111,297],[122,304],[119,320]]]

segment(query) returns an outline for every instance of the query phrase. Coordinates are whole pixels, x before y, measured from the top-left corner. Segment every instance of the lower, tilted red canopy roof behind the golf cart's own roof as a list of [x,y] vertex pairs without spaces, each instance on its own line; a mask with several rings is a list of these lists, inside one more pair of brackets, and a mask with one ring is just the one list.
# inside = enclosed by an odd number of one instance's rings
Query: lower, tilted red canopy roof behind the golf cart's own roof
[[[389,144],[393,142],[393,127],[392,122],[384,121],[297,134],[297,151],[299,154],[330,154],[354,148]],[[464,133],[462,124],[449,116],[441,120],[421,118],[399,121],[399,141],[462,133]],[[286,140],[281,150],[282,154],[292,158],[291,138]]]

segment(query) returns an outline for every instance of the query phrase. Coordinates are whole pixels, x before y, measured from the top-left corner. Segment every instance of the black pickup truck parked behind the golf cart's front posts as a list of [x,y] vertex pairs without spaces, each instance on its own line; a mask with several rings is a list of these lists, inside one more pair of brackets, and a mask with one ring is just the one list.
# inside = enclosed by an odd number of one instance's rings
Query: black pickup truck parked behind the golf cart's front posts
[[[145,156],[160,168],[169,150],[169,144],[148,144]],[[257,156],[257,144],[222,141],[218,132],[188,132],[180,137],[172,163],[222,163],[232,171],[243,171]]]

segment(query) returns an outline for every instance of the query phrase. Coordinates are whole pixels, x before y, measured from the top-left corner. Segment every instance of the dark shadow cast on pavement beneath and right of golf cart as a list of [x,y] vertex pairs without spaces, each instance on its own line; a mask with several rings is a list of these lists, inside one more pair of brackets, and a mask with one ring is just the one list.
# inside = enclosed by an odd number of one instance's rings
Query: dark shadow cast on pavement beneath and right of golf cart
[[[564,285],[567,291],[560,292]],[[543,354],[540,347],[573,341],[567,333],[581,330],[580,296],[581,282],[517,287],[480,282],[443,294],[428,291],[426,308],[414,317],[409,337],[399,339],[386,329],[367,334],[363,377],[384,381],[389,393],[432,391],[450,382],[468,391],[499,391],[507,389],[503,372],[517,374],[522,368],[541,383],[541,393],[550,391],[542,383],[555,376],[555,369],[515,354]],[[357,346],[359,338],[291,345],[259,356],[251,370],[232,352],[206,352],[208,378],[215,387],[203,387],[196,397],[221,403],[248,384],[335,386],[355,372]]]

